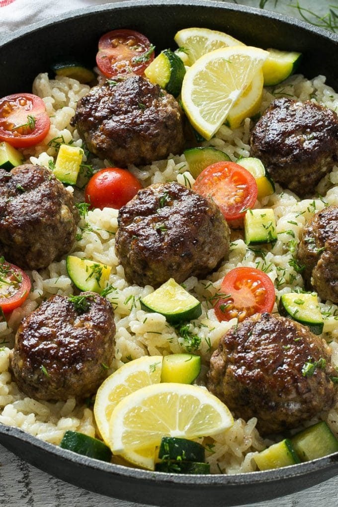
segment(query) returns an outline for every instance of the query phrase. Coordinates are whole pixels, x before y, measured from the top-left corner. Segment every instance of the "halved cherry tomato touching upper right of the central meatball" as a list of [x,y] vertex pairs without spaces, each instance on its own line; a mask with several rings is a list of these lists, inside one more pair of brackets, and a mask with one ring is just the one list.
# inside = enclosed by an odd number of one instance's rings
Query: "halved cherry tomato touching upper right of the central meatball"
[[235,162],[216,162],[197,176],[194,190],[211,197],[226,220],[237,220],[251,208],[258,194],[255,178]]

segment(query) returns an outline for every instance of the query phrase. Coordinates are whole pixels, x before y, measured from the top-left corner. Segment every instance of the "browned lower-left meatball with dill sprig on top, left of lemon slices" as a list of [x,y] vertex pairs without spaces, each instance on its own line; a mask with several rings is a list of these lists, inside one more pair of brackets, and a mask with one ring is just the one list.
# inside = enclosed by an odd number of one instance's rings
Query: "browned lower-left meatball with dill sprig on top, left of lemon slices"
[[52,296],[25,317],[15,337],[12,370],[19,389],[36,400],[78,399],[96,392],[114,357],[110,303],[82,293],[73,303]]

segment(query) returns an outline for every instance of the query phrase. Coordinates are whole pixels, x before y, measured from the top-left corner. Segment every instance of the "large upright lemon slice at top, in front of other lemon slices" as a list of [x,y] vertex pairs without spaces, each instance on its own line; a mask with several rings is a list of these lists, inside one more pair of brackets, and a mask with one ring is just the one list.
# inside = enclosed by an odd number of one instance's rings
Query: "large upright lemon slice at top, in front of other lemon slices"
[[201,56],[183,79],[182,103],[195,129],[210,139],[268,57],[251,46],[216,49]]

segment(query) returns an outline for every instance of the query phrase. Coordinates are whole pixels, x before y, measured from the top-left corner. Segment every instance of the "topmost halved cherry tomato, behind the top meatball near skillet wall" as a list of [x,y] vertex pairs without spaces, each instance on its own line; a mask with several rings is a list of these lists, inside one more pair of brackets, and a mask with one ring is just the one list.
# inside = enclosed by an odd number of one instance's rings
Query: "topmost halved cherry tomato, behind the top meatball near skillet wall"
[[112,30],[99,40],[96,63],[107,78],[131,72],[142,75],[154,60],[154,49],[142,33]]

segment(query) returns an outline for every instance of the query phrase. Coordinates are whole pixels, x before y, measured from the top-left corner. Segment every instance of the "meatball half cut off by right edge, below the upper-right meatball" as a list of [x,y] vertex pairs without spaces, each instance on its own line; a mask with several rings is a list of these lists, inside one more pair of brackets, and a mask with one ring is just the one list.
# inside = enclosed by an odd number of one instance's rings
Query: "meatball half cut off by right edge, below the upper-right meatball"
[[338,206],[318,211],[303,230],[298,262],[309,288],[338,303]]

